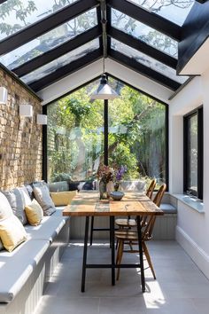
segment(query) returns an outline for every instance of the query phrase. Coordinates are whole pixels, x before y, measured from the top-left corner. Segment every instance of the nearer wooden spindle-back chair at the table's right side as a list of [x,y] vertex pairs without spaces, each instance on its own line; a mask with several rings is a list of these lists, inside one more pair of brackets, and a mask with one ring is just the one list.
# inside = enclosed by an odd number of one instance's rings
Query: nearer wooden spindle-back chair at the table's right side
[[[158,207],[161,204],[165,191],[166,191],[166,184],[162,184],[153,200],[153,202]],[[147,262],[151,268],[151,272],[154,279],[156,279],[156,275],[155,275],[153,265],[151,263],[151,256],[149,254],[149,251],[145,242],[152,239],[152,231],[154,228],[155,220],[156,220],[156,216],[143,216],[143,219],[141,221],[143,253],[146,256]],[[133,229],[120,229],[115,232],[115,237],[118,241],[118,252],[117,252],[117,257],[116,257],[116,264],[120,265],[123,252],[138,253],[138,249],[135,250],[131,248],[129,250],[124,250],[124,244],[126,243],[129,244],[130,242],[131,243],[130,247],[132,247],[132,245],[135,245],[135,244],[138,245],[138,232],[137,230],[133,230]],[[120,277],[120,268],[118,269],[117,280],[119,279],[119,277]]]

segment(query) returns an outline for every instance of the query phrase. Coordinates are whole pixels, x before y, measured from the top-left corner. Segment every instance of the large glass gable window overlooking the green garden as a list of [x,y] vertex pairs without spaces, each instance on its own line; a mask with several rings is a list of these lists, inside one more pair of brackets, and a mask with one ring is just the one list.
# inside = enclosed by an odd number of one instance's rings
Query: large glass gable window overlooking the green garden
[[[123,180],[165,183],[166,106],[109,77],[120,98],[108,100],[108,134],[104,134],[104,101],[90,100],[98,82],[90,83],[47,106],[49,181],[97,179],[108,156],[110,167],[126,166]],[[107,152],[104,151],[104,137]]]

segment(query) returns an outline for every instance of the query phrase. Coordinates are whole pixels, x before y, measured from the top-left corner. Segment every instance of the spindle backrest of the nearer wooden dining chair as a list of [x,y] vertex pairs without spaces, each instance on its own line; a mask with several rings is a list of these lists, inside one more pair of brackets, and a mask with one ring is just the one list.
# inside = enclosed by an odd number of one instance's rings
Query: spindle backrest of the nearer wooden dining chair
[[[166,191],[166,184],[162,184],[153,200],[153,203],[155,203],[158,207],[161,204],[161,200],[163,198],[165,191]],[[145,227],[144,227],[143,235],[142,235],[143,241],[148,241],[149,239],[152,238],[152,231],[154,228],[155,220],[156,220],[156,216],[145,216],[146,224],[144,224]]]

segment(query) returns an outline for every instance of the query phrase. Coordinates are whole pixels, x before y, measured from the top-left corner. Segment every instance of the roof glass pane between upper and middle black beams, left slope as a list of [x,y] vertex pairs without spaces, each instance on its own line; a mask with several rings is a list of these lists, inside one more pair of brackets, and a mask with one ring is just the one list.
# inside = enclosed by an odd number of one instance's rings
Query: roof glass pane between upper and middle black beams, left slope
[[67,23],[56,27],[50,32],[41,35],[35,40],[6,53],[0,58],[5,67],[13,69],[35,57],[58,47],[62,43],[74,38],[76,35],[97,25],[96,9],[89,10]]

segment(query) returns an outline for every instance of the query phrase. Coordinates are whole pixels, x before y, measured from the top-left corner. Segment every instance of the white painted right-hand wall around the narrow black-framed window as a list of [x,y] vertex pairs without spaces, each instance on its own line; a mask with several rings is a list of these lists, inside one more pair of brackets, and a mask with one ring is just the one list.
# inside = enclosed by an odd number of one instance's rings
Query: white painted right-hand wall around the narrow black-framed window
[[170,192],[183,192],[184,114],[204,106],[204,209],[199,213],[178,200],[176,239],[209,278],[209,71],[193,79],[169,106]]

